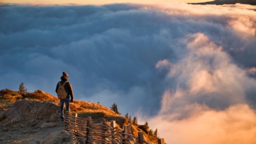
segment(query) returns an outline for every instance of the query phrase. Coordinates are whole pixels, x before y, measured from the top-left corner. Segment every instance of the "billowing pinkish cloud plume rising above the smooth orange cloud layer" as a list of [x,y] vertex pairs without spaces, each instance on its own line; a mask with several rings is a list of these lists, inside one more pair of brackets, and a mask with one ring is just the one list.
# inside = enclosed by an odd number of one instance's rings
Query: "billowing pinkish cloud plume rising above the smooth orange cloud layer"
[[188,35],[185,42],[188,54],[169,67],[168,79],[176,85],[167,87],[160,113],[179,113],[185,105],[194,103],[225,109],[246,103],[246,93],[255,93],[256,81],[207,36]]

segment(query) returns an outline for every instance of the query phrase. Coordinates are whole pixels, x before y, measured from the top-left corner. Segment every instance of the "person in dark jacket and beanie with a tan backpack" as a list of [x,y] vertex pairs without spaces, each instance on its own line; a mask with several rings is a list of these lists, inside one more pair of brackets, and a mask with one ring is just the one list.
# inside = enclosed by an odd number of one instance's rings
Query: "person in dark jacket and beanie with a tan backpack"
[[66,72],[62,72],[61,81],[57,83],[55,91],[58,95],[58,99],[60,99],[60,118],[61,121],[64,121],[64,103],[66,105],[66,111],[70,111],[70,103],[73,102],[73,89],[71,83],[68,82],[68,74]]

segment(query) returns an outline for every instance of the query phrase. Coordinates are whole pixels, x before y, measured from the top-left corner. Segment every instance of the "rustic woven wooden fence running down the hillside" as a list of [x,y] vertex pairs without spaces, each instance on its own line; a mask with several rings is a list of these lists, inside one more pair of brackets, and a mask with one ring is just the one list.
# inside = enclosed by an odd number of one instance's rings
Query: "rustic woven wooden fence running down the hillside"
[[[131,134],[131,126],[125,125],[124,130],[116,127],[115,121],[110,125],[102,119],[99,124],[93,124],[92,118],[78,118],[66,111],[65,128],[73,134],[73,143],[102,143],[102,144],[147,144],[144,140],[143,133],[138,132],[138,137]],[[158,144],[164,144],[164,139],[159,138]]]

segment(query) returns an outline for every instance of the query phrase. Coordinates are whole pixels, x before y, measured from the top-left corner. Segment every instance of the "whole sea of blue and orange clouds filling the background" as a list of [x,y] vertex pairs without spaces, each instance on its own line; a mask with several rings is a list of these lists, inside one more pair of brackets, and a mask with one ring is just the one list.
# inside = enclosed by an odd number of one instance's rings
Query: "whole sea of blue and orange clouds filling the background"
[[256,7],[0,6],[0,89],[118,104],[167,143],[256,143]]

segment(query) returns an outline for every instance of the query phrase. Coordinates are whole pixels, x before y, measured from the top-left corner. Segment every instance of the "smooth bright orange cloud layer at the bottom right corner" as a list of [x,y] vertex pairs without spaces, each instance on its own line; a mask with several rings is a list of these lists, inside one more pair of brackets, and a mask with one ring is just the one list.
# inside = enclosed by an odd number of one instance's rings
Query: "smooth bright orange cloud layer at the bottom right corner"
[[[194,109],[196,105],[191,105]],[[188,108],[189,109],[189,108]],[[248,105],[233,105],[225,110],[197,108],[193,116],[169,120],[159,115],[149,121],[168,143],[255,143],[256,115]]]

